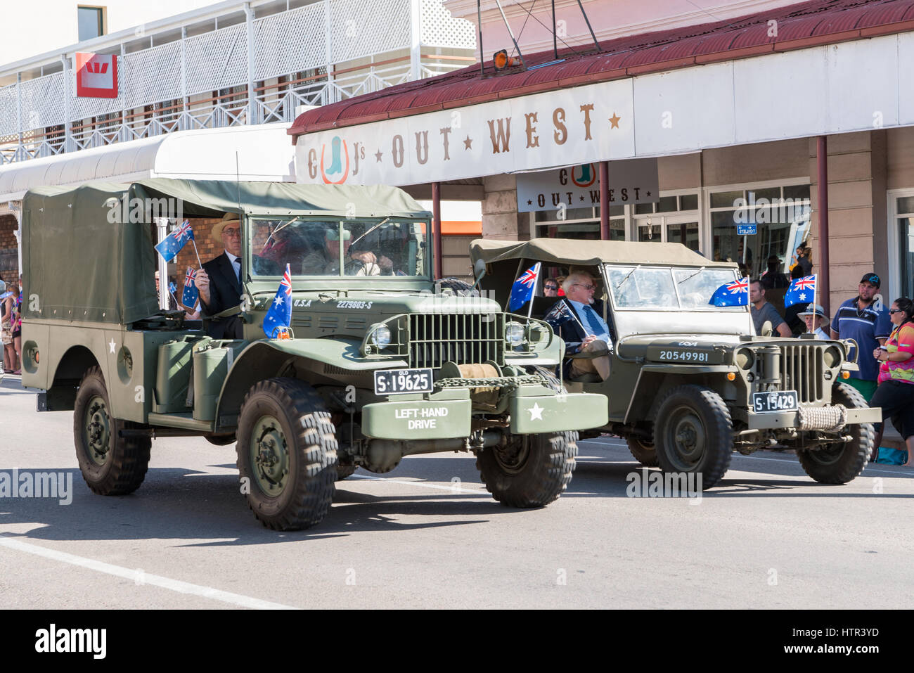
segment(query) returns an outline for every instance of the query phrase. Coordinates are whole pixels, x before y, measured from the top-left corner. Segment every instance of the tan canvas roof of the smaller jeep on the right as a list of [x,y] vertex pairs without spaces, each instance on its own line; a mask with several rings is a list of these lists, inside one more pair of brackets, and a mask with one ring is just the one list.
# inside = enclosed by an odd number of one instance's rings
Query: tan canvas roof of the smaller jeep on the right
[[568,266],[593,266],[601,263],[663,264],[668,266],[705,266],[736,268],[733,262],[712,262],[682,243],[653,243],[632,240],[476,239],[470,244],[473,263],[483,260],[505,262],[530,260]]

